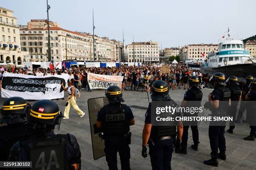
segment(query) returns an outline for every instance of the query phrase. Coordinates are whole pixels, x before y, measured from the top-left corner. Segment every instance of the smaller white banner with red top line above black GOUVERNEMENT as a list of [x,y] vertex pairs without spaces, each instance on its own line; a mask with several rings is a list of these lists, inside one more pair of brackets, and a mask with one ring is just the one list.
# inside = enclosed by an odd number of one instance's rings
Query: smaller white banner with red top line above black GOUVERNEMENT
[[123,76],[98,75],[88,72],[88,83],[91,89],[107,89],[111,85],[121,88]]

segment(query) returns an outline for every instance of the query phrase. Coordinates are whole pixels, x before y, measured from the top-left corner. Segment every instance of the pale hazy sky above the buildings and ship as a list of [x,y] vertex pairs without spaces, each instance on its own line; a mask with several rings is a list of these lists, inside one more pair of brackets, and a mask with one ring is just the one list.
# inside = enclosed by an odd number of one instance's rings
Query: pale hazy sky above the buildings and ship
[[[133,41],[158,41],[164,47],[218,43],[230,27],[234,38],[256,34],[256,0],[49,0],[50,20],[67,30]],[[18,24],[46,19],[46,0],[2,0]]]

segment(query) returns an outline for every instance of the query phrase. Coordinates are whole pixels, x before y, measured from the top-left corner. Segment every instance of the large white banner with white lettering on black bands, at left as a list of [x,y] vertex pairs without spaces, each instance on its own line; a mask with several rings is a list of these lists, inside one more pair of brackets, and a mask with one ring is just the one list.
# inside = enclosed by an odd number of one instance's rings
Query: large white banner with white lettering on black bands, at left
[[1,97],[20,96],[26,100],[57,99],[64,97],[61,82],[65,85],[69,76],[33,76],[4,73]]

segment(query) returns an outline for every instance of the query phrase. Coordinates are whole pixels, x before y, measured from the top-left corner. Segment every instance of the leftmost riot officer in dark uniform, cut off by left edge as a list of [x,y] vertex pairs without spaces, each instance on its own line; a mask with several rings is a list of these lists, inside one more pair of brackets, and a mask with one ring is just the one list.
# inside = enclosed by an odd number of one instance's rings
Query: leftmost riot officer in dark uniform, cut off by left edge
[[2,118],[0,123],[0,161],[6,161],[9,150],[18,140],[26,139],[30,136],[25,132],[25,119],[31,106],[21,97],[10,97],[3,103],[1,109]]

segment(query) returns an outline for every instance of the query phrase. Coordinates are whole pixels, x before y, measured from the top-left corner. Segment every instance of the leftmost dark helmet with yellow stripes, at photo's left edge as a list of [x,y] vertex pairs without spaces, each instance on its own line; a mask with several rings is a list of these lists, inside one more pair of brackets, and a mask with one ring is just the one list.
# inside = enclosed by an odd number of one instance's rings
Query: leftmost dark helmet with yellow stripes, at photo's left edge
[[0,123],[15,124],[25,122],[24,117],[28,115],[31,105],[26,103],[22,97],[10,97],[3,103]]

